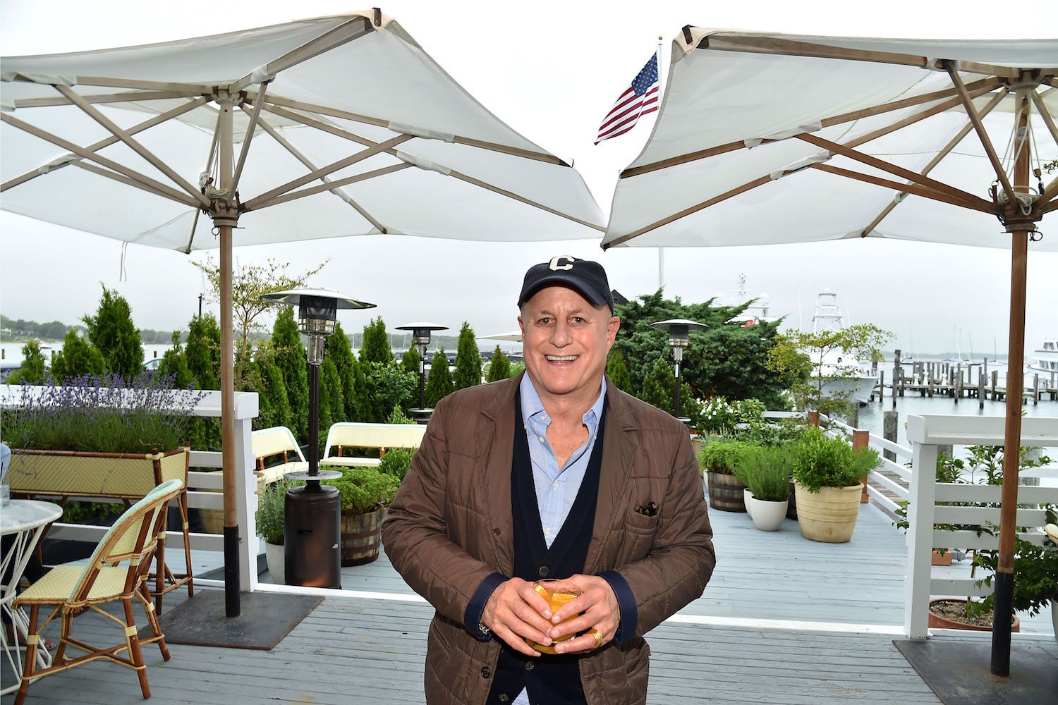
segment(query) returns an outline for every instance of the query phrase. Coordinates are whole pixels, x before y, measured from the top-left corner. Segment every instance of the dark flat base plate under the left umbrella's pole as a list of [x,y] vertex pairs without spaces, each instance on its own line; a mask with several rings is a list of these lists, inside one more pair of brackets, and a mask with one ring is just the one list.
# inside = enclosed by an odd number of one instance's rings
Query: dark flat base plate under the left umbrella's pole
[[224,592],[203,590],[161,615],[170,644],[270,650],[323,601],[315,595],[242,593],[240,614],[227,617]]

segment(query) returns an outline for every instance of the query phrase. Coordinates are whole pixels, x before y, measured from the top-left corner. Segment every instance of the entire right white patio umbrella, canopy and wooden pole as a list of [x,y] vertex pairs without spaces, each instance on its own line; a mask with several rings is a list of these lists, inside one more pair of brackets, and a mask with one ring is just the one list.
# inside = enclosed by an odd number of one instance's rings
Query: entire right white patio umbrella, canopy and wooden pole
[[[683,27],[603,247],[898,238],[1010,247],[997,614],[1010,612],[1025,270],[1054,224],[1058,40],[945,41]],[[1039,170],[1037,170],[1039,169]],[[992,672],[1009,671],[996,619]],[[1005,634],[1003,633],[1005,631]]]

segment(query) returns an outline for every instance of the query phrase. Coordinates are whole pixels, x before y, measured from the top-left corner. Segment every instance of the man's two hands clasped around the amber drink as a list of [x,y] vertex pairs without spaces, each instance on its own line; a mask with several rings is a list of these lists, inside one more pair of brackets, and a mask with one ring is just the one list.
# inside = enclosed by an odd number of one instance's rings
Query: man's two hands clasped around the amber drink
[[[557,653],[584,653],[613,639],[621,613],[617,595],[609,583],[596,575],[573,575],[548,582],[548,589],[559,591],[564,585],[576,586],[581,594],[552,614],[547,599],[536,592],[532,582],[510,578],[489,597],[481,613],[481,624],[512,649],[527,656],[539,656],[540,653],[526,644],[526,638],[544,646],[554,643]],[[561,623],[565,624],[560,629],[555,625]],[[598,630],[601,639],[592,630]],[[580,632],[585,633],[554,642],[554,637]]]

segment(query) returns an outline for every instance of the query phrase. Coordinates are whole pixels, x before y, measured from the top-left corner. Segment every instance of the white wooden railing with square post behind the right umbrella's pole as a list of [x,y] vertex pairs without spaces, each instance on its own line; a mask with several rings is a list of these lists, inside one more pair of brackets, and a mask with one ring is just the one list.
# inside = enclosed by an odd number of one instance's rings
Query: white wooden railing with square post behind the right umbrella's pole
[[[996,549],[999,537],[978,536],[973,531],[934,530],[936,523],[984,525],[1000,523],[1000,509],[984,506],[999,504],[999,485],[969,485],[936,482],[937,446],[1003,445],[1006,420],[1003,416],[908,416],[908,440],[914,449],[908,519],[908,574],[905,578],[905,633],[910,638],[929,635],[931,595],[987,595],[989,588],[978,588],[972,578],[934,578],[931,555],[937,549]],[[1021,445],[1042,448],[1058,446],[1058,419],[1022,419]],[[938,503],[968,502],[974,506],[942,506]],[[1056,504],[1058,487],[1019,485],[1019,505]],[[1019,526],[1042,526],[1042,509],[1018,509]],[[1019,536],[1034,543],[1043,542],[1038,530]]]

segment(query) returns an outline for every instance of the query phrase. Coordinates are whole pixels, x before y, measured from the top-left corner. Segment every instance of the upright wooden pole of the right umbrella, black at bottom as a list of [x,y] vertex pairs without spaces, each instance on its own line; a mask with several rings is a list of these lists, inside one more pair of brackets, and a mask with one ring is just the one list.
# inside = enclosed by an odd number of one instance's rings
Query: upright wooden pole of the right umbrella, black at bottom
[[[1024,99],[1024,96],[1022,96]],[[1027,123],[1027,105],[1022,106],[1017,127]],[[1017,132],[1016,132],[1017,134]],[[1014,166],[1015,191],[1025,192],[1029,163],[1027,137],[1021,141]],[[1006,430],[1003,439],[1003,491],[1000,509],[999,565],[996,571],[996,601],[992,605],[991,672],[1010,674],[1010,620],[1014,616],[1014,546],[1018,512],[1018,472],[1021,468],[1021,394],[1025,359],[1025,280],[1028,268],[1028,230],[1017,202],[1007,204],[1010,229],[1010,338],[1006,372]]]

